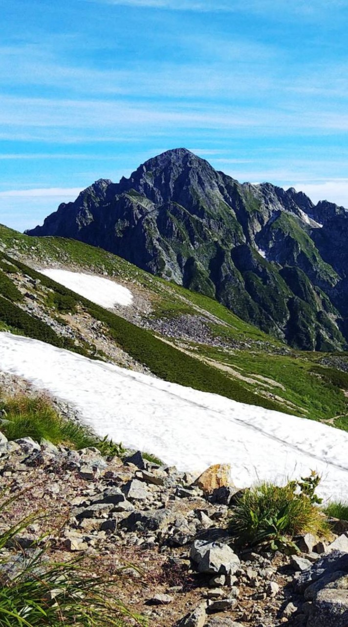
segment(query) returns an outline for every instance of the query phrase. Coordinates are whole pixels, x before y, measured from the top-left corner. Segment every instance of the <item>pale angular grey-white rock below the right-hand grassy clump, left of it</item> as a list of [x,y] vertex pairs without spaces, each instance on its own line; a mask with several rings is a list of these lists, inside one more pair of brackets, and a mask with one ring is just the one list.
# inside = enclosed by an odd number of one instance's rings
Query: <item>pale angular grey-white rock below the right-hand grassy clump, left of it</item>
[[190,557],[197,564],[198,572],[218,575],[233,575],[240,566],[240,560],[228,544],[220,542],[193,542]]

